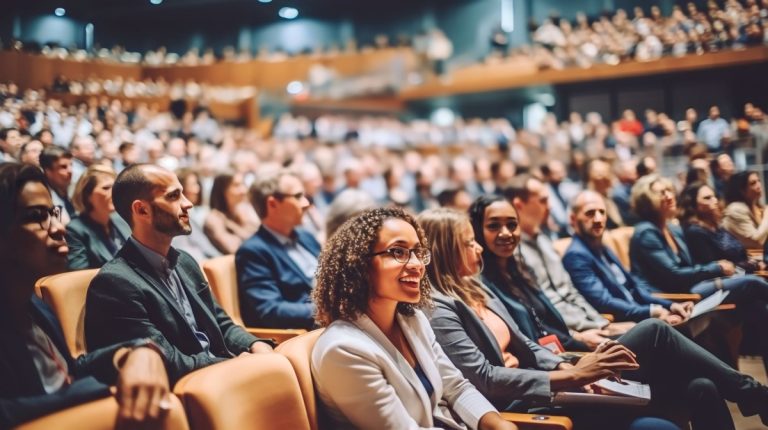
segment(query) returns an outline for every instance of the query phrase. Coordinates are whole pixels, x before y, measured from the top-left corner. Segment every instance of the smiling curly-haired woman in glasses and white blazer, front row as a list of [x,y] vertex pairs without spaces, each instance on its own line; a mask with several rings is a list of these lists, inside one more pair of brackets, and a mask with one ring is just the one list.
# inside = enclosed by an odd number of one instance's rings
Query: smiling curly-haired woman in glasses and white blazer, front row
[[401,209],[344,223],[320,254],[313,298],[327,328],[312,377],[333,428],[516,429],[461,375],[420,308],[424,233]]

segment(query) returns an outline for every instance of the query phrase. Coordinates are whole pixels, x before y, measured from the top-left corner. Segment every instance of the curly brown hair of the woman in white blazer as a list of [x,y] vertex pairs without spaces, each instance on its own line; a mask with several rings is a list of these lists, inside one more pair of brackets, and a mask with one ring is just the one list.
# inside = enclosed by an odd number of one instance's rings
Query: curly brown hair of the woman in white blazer
[[[342,224],[320,253],[317,285],[312,292],[317,306],[315,320],[319,325],[327,326],[336,320],[353,321],[368,307],[371,254],[384,221],[392,218],[412,225],[421,246],[428,248],[424,231],[413,216],[402,209],[370,209]],[[399,313],[412,315],[414,309],[431,303],[426,276],[421,279],[420,289],[419,303],[400,303]]]

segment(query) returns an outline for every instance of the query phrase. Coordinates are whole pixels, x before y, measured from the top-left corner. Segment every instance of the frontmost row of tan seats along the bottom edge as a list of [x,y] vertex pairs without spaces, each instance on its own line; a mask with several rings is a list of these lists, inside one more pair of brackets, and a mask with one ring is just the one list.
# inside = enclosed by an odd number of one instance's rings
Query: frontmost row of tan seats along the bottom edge
[[[162,429],[322,430],[309,357],[322,329],[282,343],[277,354],[233,358],[192,372],[174,388]],[[233,376],[236,375],[236,376]],[[26,423],[19,430],[115,427],[117,403],[101,399]],[[519,428],[570,430],[567,417],[503,413]]]

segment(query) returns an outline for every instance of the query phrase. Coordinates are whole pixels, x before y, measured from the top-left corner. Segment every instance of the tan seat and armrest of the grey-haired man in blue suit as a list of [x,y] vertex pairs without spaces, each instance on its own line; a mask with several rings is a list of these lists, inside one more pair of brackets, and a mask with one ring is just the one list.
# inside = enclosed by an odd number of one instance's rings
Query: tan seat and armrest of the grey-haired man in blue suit
[[[211,290],[219,305],[224,309],[227,315],[239,325],[243,324],[243,318],[240,315],[240,297],[237,291],[237,272],[235,270],[235,256],[224,255],[203,261],[203,272]],[[246,327],[249,333],[263,338],[274,339],[280,343],[286,339],[298,336],[307,331],[304,329],[272,329],[272,328],[253,328]]]

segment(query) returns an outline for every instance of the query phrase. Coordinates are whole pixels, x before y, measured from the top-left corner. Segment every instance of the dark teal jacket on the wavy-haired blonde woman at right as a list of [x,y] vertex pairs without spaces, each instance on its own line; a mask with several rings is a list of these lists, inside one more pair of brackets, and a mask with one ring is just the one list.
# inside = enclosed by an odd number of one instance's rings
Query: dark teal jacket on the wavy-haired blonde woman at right
[[633,275],[667,293],[690,293],[691,287],[699,282],[723,275],[716,261],[693,264],[683,231],[672,224],[669,230],[677,243],[677,254],[653,223],[643,221],[635,226],[629,242]]

